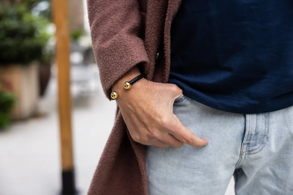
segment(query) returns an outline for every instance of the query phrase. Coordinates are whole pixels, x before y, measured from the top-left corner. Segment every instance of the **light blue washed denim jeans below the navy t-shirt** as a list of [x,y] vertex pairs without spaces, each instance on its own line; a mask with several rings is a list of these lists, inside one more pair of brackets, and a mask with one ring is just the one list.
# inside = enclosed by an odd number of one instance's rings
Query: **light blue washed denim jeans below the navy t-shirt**
[[222,195],[233,175],[237,195],[293,194],[293,107],[243,115],[181,96],[173,113],[209,144],[147,146],[149,195]]

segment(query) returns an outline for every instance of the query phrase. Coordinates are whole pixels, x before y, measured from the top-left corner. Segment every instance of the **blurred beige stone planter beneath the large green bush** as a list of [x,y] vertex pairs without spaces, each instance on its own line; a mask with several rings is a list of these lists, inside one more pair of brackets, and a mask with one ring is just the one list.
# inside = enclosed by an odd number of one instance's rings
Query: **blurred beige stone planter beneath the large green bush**
[[16,104],[11,112],[13,119],[32,116],[39,99],[39,65],[0,65],[0,78],[10,83],[9,91],[15,94]]

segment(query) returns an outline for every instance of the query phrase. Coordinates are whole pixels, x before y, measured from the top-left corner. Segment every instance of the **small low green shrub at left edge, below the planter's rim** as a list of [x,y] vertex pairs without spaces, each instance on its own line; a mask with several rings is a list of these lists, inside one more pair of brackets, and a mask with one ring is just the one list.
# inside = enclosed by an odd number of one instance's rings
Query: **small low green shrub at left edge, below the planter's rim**
[[10,111],[13,108],[15,100],[13,94],[1,91],[0,85],[0,129],[10,124]]

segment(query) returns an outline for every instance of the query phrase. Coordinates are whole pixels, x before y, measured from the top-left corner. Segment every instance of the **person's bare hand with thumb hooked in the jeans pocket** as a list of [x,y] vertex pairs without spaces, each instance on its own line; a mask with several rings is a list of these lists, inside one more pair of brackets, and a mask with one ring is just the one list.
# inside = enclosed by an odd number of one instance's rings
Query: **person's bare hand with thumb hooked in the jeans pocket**
[[197,137],[182,125],[173,114],[173,103],[182,90],[175,84],[163,84],[141,79],[132,88],[123,88],[123,83],[138,76],[134,67],[112,87],[119,96],[116,102],[134,141],[157,147],[180,148],[183,143],[201,147],[207,140]]

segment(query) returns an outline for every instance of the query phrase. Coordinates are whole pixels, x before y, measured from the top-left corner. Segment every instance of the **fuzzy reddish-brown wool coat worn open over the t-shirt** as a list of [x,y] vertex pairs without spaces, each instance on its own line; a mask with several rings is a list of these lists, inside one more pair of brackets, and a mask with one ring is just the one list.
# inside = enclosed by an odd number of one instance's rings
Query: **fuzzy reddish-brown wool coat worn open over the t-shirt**
[[[137,64],[148,80],[167,82],[170,28],[181,0],[87,1],[93,50],[107,97],[112,85]],[[148,194],[145,146],[132,140],[118,109],[88,195],[126,194]]]

